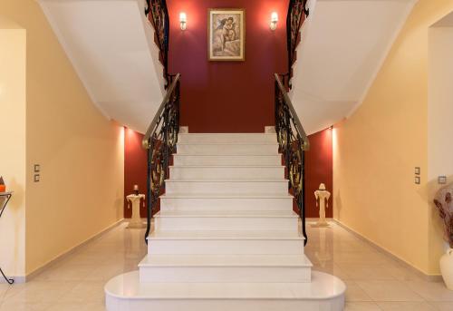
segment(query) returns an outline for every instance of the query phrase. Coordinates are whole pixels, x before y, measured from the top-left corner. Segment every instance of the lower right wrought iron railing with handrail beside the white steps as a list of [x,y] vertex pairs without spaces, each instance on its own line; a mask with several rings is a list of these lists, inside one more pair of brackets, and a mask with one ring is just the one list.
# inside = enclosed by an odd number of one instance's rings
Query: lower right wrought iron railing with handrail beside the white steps
[[[310,148],[304,127],[297,117],[293,103],[289,99],[280,75],[275,73],[275,131],[279,151],[284,155],[284,165],[289,178],[289,190],[294,195],[299,216],[302,220],[304,243],[307,243],[305,230],[305,151]],[[283,81],[283,82],[282,82]]]

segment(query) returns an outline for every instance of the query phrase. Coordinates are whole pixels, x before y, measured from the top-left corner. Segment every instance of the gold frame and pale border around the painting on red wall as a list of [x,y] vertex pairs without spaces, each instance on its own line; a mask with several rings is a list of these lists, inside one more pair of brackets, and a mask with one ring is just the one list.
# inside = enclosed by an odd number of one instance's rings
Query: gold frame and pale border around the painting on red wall
[[[239,17],[239,53],[237,55],[218,55],[215,51],[216,34],[214,27],[216,15],[238,15]],[[222,51],[223,52],[223,51]],[[207,9],[207,60],[209,62],[245,62],[246,61],[246,9],[245,8],[209,8]]]

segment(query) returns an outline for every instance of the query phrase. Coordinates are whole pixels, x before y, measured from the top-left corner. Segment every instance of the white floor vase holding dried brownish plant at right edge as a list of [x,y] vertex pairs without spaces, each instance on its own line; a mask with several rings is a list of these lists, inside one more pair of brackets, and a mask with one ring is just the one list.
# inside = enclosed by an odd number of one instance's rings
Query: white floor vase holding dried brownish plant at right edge
[[447,253],[440,258],[440,272],[445,285],[453,290],[453,184],[438,191],[434,204],[444,221],[444,238],[449,244]]

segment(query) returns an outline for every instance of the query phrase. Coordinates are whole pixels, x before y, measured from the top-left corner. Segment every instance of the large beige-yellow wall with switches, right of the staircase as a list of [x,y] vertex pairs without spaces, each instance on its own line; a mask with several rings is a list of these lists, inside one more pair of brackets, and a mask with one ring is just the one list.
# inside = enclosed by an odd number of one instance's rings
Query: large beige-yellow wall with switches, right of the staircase
[[452,10],[415,5],[361,107],[334,129],[334,217],[428,275],[443,247],[428,180],[429,26]]

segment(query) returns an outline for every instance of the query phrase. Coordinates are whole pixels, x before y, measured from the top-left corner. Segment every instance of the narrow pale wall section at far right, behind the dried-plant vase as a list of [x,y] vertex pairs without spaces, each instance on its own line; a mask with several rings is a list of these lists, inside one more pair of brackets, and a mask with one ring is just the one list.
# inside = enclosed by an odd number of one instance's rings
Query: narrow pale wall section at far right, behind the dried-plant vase
[[[450,13],[448,26],[429,29],[429,104],[428,104],[428,187],[429,198],[439,190],[438,177],[447,176],[453,181],[453,19]],[[443,235],[437,212],[430,218],[429,251],[431,265],[437,267]],[[445,248],[448,244],[445,243]],[[437,256],[436,256],[437,255]]]

